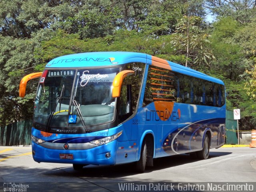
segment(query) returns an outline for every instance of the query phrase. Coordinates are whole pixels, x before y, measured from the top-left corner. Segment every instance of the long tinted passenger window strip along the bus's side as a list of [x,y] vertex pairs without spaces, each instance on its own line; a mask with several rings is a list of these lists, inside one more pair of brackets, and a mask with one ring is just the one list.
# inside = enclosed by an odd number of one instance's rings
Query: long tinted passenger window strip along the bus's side
[[157,100],[220,107],[225,90],[214,82],[150,66],[143,107]]

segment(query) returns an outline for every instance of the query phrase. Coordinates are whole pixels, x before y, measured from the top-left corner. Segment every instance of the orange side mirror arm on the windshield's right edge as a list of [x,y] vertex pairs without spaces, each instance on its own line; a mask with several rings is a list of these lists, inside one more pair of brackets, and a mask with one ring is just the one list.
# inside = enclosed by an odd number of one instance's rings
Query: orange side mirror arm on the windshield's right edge
[[124,78],[133,73],[134,73],[134,71],[132,71],[132,70],[124,70],[124,71],[119,72],[115,76],[113,83],[112,83],[112,86],[113,86],[112,97],[114,97],[114,98],[120,97],[121,87],[122,87]]

